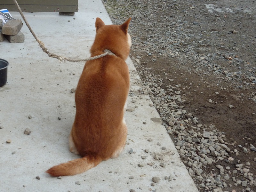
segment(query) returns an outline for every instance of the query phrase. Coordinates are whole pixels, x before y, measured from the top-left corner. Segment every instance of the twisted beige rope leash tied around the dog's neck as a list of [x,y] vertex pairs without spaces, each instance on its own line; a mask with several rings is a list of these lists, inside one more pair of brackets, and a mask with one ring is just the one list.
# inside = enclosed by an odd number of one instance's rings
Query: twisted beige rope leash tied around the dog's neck
[[26,20],[26,18],[25,18],[25,16],[24,16],[23,12],[21,11],[20,6],[19,6],[19,4],[17,3],[17,1],[16,1],[16,0],[13,0],[13,1],[14,1],[15,5],[16,5],[17,9],[18,9],[19,12],[20,12],[20,15],[21,15],[22,19],[24,20],[24,22],[25,22],[26,25],[28,26],[29,31],[30,31],[30,32],[32,33],[32,35],[35,37],[35,39],[36,39],[36,41],[38,42],[38,44],[39,44],[39,46],[41,47],[41,49],[42,49],[46,54],[48,54],[49,57],[56,58],[56,59],[58,59],[60,62],[61,62],[61,61],[64,61],[64,62],[65,62],[65,61],[80,62],[80,61],[89,61],[89,60],[99,59],[99,58],[104,57],[104,56],[106,56],[106,55],[108,55],[108,54],[111,53],[111,52],[109,52],[108,50],[107,50],[107,51],[105,50],[104,53],[102,53],[101,55],[97,55],[97,56],[94,56],[94,57],[89,57],[89,58],[86,58],[86,59],[70,59],[70,58],[63,57],[63,56],[57,55],[57,54],[55,54],[55,53],[49,52],[48,49],[44,46],[44,43],[43,43],[42,41],[40,41],[40,40],[37,38],[36,34],[34,33],[34,31],[32,30],[32,28],[31,28],[30,25],[28,24],[28,21]]

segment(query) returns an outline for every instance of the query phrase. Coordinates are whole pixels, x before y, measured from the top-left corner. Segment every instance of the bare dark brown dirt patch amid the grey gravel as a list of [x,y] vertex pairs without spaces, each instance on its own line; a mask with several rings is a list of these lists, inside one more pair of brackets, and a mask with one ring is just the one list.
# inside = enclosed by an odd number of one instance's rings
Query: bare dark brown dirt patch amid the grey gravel
[[[186,100],[183,105],[186,110],[199,118],[201,124],[214,124],[218,130],[226,133],[230,143],[236,141],[237,145],[244,146],[244,143],[248,143],[246,138],[251,138],[249,143],[256,145],[256,116],[252,115],[256,107],[254,101],[248,100],[252,89],[236,89],[229,82],[223,82],[214,75],[198,76],[185,68],[180,72],[177,68],[180,65],[176,66],[179,61],[175,59],[168,60],[171,63],[169,67],[165,62],[166,58],[159,58],[155,62],[148,61],[144,66],[151,68],[153,73],[164,79],[162,84],[164,89],[170,85],[168,79],[174,79],[173,85],[181,84],[183,94],[186,94],[183,95]],[[143,79],[143,75],[141,78]],[[220,86],[227,90],[221,90]],[[209,99],[213,103],[209,103]],[[234,108],[229,108],[229,105],[233,105]],[[252,153],[249,159],[253,160],[255,155]]]

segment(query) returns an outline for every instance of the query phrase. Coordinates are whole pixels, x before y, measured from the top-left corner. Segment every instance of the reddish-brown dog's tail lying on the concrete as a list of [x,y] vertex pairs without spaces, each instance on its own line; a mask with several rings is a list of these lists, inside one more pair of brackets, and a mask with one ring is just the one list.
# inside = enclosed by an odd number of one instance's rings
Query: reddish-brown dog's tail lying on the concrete
[[102,160],[91,156],[84,156],[83,158],[74,159],[67,163],[55,165],[46,172],[54,177],[76,175],[83,173],[92,167],[98,165]]

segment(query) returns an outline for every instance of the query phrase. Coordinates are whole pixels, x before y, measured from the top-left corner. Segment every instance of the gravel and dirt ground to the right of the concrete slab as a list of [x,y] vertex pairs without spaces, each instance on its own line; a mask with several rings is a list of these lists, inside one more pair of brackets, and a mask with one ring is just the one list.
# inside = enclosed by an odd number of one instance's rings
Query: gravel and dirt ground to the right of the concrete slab
[[256,2],[103,0],[199,191],[256,191]]

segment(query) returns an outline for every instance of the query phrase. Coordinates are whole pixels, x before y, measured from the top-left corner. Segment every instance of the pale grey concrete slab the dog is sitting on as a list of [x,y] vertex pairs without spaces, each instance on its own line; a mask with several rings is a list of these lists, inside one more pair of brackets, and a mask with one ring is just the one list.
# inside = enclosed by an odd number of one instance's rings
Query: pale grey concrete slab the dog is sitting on
[[[50,52],[86,58],[90,56],[95,36],[96,17],[106,24],[111,24],[111,20],[100,0],[81,0],[78,7],[79,12],[74,16],[51,12],[25,13],[25,16]],[[21,19],[18,12],[11,14]],[[84,62],[59,63],[42,52],[26,26],[22,32],[24,43],[10,44],[6,39],[0,43],[1,52],[4,51],[1,58],[10,63],[7,84],[0,88],[2,191],[198,191],[156,109],[149,106],[152,102],[148,95],[128,98],[128,105],[137,108],[125,114],[127,145],[118,158],[61,180],[46,174],[51,166],[79,157],[68,150],[68,135],[75,116],[74,93],[70,90],[76,87]],[[140,78],[130,59],[127,64],[131,90],[138,90]],[[131,102],[132,99],[136,102]],[[23,133],[26,128],[31,130],[30,135]],[[6,143],[9,139],[11,143]],[[160,159],[154,159],[156,154]],[[134,179],[129,179],[130,176]],[[161,180],[152,186],[152,177]]]

